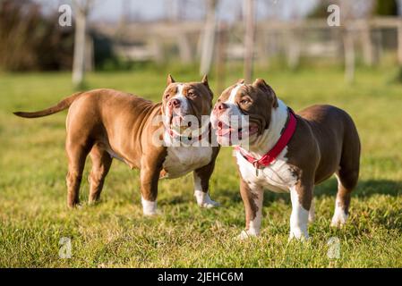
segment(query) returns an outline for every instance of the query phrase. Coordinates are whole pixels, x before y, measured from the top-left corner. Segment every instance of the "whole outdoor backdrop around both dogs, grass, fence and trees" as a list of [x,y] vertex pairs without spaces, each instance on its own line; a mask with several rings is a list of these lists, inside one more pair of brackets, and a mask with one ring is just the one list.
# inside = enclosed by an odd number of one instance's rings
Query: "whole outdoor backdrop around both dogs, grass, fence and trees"
[[[337,23],[330,4],[340,9],[339,26],[329,25]],[[164,215],[143,218],[139,171],[115,162],[101,204],[69,212],[66,111],[35,120],[13,112],[90,88],[158,102],[167,73],[177,81],[208,73],[214,100],[239,78],[258,77],[295,111],[346,110],[362,140],[349,226],[329,231],[332,178],[314,190],[311,247],[289,252],[290,199],[271,192],[263,239],[245,248],[223,243],[244,227],[229,147],[210,180],[222,207],[196,206],[189,174],[160,181]],[[402,267],[401,82],[401,1],[0,0],[0,267]],[[90,160],[82,202],[89,171]],[[343,243],[337,261],[326,256],[333,236]],[[57,256],[61,237],[73,237],[74,259]]]

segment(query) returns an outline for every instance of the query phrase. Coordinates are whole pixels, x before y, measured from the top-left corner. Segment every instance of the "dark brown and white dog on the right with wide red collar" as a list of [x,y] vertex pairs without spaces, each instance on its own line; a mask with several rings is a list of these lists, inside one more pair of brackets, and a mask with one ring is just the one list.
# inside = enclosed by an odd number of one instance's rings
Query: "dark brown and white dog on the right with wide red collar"
[[[231,120],[234,115],[248,121],[236,125]],[[290,239],[308,238],[314,185],[333,173],[338,178],[338,196],[332,225],[346,223],[359,175],[360,140],[345,111],[313,105],[294,114],[264,80],[252,85],[240,80],[218,98],[211,122],[222,145],[232,145],[230,137],[236,132],[241,139],[236,147],[246,216],[241,238],[260,233],[263,187],[290,192]]]

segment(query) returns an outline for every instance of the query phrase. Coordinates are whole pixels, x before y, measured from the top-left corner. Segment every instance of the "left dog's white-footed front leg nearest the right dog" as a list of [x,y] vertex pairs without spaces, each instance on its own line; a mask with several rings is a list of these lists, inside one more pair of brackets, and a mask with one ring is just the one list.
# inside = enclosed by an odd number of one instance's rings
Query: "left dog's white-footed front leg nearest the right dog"
[[214,170],[214,163],[207,164],[200,169],[192,172],[194,181],[194,197],[197,200],[198,206],[215,207],[219,203],[210,199],[208,190],[210,189],[210,176]]

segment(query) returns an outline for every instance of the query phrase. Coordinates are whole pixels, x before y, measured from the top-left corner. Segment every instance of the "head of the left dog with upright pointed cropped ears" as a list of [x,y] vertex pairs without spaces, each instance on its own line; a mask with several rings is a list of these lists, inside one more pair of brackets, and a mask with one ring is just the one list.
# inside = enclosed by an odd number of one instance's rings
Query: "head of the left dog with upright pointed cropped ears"
[[201,116],[210,115],[212,97],[207,76],[200,82],[175,82],[169,74],[162,97],[166,126],[176,133],[182,133],[196,121],[201,128]]

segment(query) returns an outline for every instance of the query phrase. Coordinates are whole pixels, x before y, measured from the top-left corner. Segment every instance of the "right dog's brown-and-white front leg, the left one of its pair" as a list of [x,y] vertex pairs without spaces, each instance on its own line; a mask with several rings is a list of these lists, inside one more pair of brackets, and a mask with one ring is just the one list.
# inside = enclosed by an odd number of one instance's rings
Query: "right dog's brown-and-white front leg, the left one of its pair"
[[242,195],[245,208],[245,231],[239,235],[239,239],[260,234],[263,190],[256,184],[248,184],[240,180],[240,194]]

